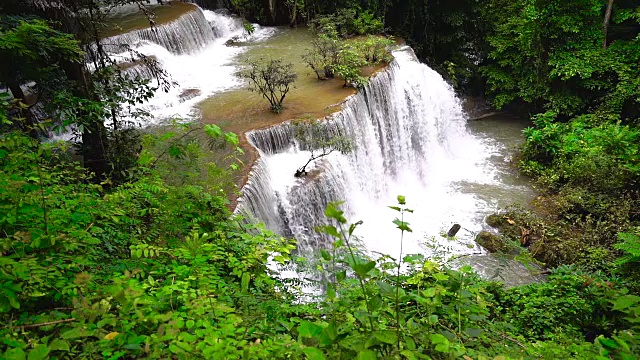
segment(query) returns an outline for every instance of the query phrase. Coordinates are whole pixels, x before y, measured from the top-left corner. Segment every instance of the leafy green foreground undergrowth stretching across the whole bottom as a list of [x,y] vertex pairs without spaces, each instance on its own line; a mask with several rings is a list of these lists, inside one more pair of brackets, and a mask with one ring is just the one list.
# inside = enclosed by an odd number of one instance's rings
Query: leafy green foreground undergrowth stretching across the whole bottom
[[[3,358],[638,353],[640,298],[618,283],[563,269],[549,283],[502,290],[469,267],[454,271],[402,252],[371,259],[358,248],[361,222],[349,223],[339,204],[330,204],[318,229],[335,240],[320,252],[326,291],[301,304],[297,284],[267,266],[290,263],[291,241],[233,216],[215,188],[171,185],[157,173],[201,156],[182,142],[194,129],[150,136],[156,142],[143,150],[137,180],[108,190],[87,181],[61,144],[2,138]],[[216,126],[202,130],[238,145]],[[411,210],[403,196],[391,208],[402,242]]]

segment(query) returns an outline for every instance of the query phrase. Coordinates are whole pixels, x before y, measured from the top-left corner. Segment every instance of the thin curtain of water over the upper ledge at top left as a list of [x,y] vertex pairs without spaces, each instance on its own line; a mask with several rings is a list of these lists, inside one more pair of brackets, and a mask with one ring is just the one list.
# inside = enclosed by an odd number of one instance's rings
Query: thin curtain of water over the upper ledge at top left
[[169,23],[108,37],[102,44],[107,52],[114,54],[124,52],[124,45],[135,47],[143,41],[158,44],[173,54],[191,54],[218,37],[203,11],[196,7]]

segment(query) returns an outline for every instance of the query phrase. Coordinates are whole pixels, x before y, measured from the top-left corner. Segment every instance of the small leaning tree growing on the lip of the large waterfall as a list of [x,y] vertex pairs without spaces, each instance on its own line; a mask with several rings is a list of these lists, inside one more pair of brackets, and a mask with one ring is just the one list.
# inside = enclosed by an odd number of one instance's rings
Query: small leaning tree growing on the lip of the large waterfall
[[295,177],[306,176],[307,166],[315,160],[325,157],[334,151],[346,154],[353,148],[351,139],[332,131],[326,122],[301,119],[295,121],[293,125],[295,126],[296,139],[311,151],[309,160],[296,170]]

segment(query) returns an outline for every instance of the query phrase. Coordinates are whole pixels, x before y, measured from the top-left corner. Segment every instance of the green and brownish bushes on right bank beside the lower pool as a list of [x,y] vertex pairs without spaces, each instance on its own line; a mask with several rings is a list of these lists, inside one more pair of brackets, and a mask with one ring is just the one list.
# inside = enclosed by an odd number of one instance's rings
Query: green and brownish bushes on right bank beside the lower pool
[[640,131],[613,116],[583,115],[566,123],[555,116],[535,117],[535,127],[524,131],[520,160],[526,174],[557,192],[555,205],[546,209],[556,217],[549,231],[555,235],[545,236],[537,251],[548,263],[589,268],[595,262],[587,259],[609,261],[617,234],[637,222]]

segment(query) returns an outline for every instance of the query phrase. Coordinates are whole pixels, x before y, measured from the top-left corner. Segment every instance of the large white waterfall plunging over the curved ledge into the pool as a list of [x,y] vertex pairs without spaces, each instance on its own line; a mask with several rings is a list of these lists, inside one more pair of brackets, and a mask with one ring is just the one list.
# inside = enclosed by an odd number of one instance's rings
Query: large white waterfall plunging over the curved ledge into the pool
[[[460,184],[495,181],[492,169],[482,165],[492,149],[468,132],[460,101],[438,73],[419,63],[408,47],[393,54],[386,70],[325,119],[355,148],[316,161],[313,176],[293,177],[310,153],[293,138],[291,125],[247,134],[261,158],[243,188],[239,213],[292,234],[299,247],[319,248],[329,239],[314,227],[326,223],[329,202],[345,201],[346,216],[364,220],[357,234],[366,248],[386,254],[399,249],[399,232],[391,223],[399,214],[388,209],[397,195],[405,195],[415,210],[405,251],[424,253],[425,235],[438,235],[455,222],[471,231],[481,228],[488,204],[461,191]],[[445,245],[478,252],[472,244],[466,239]]]

